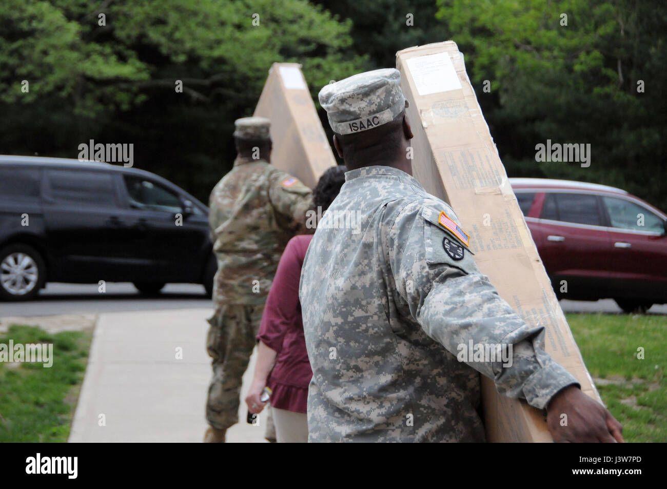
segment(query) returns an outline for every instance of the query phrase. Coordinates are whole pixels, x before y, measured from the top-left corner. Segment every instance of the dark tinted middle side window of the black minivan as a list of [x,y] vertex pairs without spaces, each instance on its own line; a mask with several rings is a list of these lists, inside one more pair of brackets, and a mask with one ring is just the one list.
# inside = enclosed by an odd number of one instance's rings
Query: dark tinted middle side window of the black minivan
[[49,169],[51,197],[87,205],[116,205],[113,175],[106,171]]

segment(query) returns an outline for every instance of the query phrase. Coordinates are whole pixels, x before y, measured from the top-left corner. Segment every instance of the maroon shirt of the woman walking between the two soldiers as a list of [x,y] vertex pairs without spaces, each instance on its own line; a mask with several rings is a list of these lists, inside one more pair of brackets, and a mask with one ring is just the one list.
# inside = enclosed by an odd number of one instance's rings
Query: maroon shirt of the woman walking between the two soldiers
[[271,406],[306,412],[308,384],[313,376],[303,338],[299,280],[311,234],[296,235],[287,243],[266,300],[257,340],[275,350],[277,357],[267,386]]

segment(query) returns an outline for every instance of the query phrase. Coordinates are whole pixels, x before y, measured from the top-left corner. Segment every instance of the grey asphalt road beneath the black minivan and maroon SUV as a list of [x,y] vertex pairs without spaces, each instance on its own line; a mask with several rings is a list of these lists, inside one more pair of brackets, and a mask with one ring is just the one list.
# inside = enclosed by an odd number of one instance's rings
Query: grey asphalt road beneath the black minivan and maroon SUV
[[[622,312],[610,299],[597,302],[562,300],[560,306],[565,312]],[[169,284],[157,297],[142,296],[129,283],[107,283],[105,294],[97,292],[95,284],[48,284],[32,302],[0,302],[0,317],[210,307],[211,300],[204,296],[203,286],[195,284]],[[667,315],[667,305],[653,306],[649,314]]]

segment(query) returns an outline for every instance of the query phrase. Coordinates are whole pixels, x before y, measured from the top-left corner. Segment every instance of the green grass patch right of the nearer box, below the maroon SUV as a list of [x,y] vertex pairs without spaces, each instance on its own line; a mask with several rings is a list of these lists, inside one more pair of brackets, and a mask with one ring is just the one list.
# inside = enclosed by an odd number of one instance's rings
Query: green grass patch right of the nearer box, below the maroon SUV
[[[567,314],[600,396],[626,442],[667,442],[667,318]],[[644,360],[638,359],[638,348]]]

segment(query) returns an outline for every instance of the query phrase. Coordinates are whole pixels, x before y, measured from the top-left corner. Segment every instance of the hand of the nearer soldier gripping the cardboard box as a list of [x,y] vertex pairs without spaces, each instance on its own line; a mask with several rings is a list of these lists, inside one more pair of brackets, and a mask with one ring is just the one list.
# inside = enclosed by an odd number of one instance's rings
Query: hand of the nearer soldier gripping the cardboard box
[[552,398],[546,420],[554,442],[623,443],[621,424],[576,386],[566,387]]

